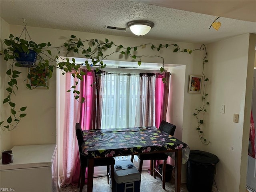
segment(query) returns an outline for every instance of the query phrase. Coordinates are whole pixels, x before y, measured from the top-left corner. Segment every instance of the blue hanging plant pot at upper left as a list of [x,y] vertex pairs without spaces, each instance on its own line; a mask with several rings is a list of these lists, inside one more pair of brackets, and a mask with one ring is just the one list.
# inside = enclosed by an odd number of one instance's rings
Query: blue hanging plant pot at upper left
[[19,57],[15,57],[16,62],[20,65],[20,67],[33,67],[36,64],[36,56],[37,53],[30,49],[29,53],[20,52],[18,50],[14,51],[19,54]]

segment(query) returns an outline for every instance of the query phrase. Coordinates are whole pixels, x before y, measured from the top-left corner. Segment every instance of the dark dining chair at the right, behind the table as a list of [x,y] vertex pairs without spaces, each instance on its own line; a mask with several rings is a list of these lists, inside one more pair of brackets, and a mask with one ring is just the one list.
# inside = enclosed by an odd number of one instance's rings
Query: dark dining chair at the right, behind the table
[[[159,129],[173,136],[176,126],[162,120],[162,122],[160,123]],[[166,161],[167,161],[168,155],[165,153],[157,153],[157,154],[140,154],[136,156],[138,156],[138,159],[139,159],[139,172],[140,173],[142,172],[143,161],[150,160],[150,170],[147,170],[147,171],[150,171],[151,175],[153,172],[154,178],[156,178],[156,172],[157,172],[162,177],[162,188],[165,189],[165,170],[166,170]],[[133,162],[133,159],[134,159],[134,155],[132,155],[131,157],[132,162]],[[156,160],[164,160],[162,173],[160,173],[156,168]]]

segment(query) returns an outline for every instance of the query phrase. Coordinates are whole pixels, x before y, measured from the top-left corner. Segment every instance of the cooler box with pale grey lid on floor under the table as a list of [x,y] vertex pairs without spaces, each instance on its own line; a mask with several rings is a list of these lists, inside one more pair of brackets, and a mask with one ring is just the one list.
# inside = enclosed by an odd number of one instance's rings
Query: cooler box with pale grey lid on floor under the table
[[114,166],[115,192],[140,192],[140,172],[130,160],[116,161]]

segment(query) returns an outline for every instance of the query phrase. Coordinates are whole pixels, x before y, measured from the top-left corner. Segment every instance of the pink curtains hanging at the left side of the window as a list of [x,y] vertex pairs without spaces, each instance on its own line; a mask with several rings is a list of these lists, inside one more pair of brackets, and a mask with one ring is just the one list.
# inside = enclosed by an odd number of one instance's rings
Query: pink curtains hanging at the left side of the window
[[[65,127],[64,127],[64,138],[63,138],[63,175],[64,180],[62,181],[62,186],[68,184],[77,184],[79,180],[80,173],[80,162],[79,162],[79,152],[78,144],[76,139],[75,124],[80,122],[82,130],[89,130],[96,128],[98,122],[96,123],[96,105],[100,108],[100,103],[97,102],[97,95],[100,92],[101,86],[100,76],[95,78],[94,71],[84,70],[86,73],[83,76],[83,81],[79,81],[76,90],[80,91],[80,100],[82,97],[85,101],[78,102],[74,99],[73,94],[66,93],[65,99]],[[71,86],[75,84],[77,80],[72,77],[71,74],[66,74],[66,90],[69,90]],[[98,119],[101,116],[98,115]],[[100,124],[100,122],[99,122]],[[87,171],[86,171],[87,178]],[[86,180],[87,182],[87,180]]]

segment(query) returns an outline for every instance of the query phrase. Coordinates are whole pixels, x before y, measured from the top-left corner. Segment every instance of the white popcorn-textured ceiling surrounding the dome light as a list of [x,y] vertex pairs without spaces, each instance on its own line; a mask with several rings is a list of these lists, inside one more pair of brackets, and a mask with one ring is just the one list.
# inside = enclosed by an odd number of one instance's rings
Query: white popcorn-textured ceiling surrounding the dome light
[[[140,38],[205,44],[256,33],[255,0],[0,0],[0,16],[9,24],[22,25],[25,18],[27,26],[128,37],[135,37],[129,29],[106,26],[127,28],[129,21],[145,19],[155,26]],[[217,16],[222,16],[218,19],[222,26],[218,31],[209,29]]]

